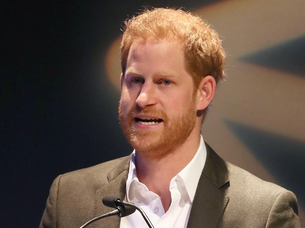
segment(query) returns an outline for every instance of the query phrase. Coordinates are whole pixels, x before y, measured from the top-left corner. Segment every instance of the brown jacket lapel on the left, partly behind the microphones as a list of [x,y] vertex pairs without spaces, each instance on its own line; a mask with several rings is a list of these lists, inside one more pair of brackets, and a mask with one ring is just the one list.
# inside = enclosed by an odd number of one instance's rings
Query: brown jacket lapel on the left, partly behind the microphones
[[[108,184],[103,185],[95,192],[95,217],[114,210],[114,208],[109,208],[102,204],[102,198],[105,195],[117,196],[124,200],[130,158],[131,156],[124,157],[123,160],[107,174]],[[94,227],[119,228],[120,218],[111,216],[109,218],[100,219],[94,223]]]

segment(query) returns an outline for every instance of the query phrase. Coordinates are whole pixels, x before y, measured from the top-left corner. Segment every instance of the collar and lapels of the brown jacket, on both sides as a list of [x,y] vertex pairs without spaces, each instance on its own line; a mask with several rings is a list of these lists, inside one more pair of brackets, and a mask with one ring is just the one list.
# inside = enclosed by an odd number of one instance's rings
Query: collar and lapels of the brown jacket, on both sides
[[[130,159],[131,156],[123,157],[120,163],[107,174],[108,184],[96,191],[95,216],[111,211],[102,204],[103,196],[114,195],[121,199],[125,198]],[[214,228],[217,226],[229,201],[229,197],[224,193],[229,185],[228,168],[225,161],[206,144],[206,163],[198,182],[188,219],[188,228]],[[95,227],[118,228],[120,218],[113,216],[98,220],[95,222]]]

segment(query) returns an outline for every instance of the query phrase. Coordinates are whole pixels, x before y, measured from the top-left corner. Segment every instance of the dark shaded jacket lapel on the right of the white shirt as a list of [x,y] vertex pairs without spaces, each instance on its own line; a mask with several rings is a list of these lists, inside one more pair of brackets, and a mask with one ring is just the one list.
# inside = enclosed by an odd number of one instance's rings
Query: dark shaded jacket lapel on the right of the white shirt
[[229,185],[225,161],[206,144],[206,163],[197,185],[188,228],[217,227],[229,201],[229,197],[224,193]]

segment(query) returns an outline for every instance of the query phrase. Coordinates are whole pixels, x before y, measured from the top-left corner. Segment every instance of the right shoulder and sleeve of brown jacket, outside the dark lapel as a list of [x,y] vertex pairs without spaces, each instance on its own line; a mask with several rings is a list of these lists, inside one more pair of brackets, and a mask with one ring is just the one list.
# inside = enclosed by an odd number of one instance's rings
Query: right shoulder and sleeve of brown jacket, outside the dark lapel
[[[248,171],[225,162],[228,168],[229,197],[223,223],[241,227],[300,227],[298,206],[293,192],[274,183],[264,181]],[[234,225],[232,225],[233,227]]]

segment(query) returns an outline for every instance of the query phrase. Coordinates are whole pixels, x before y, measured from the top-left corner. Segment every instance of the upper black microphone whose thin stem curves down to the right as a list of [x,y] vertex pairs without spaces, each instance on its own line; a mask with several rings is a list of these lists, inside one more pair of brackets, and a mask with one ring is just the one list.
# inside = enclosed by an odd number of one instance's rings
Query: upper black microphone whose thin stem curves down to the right
[[122,201],[119,197],[115,197],[113,195],[104,196],[102,199],[102,203],[105,206],[112,207],[112,208],[115,208],[117,206],[125,206],[126,208],[131,207],[131,208],[137,209],[141,213],[141,215],[142,215],[143,219],[145,220],[145,222],[147,223],[148,227],[154,228],[152,223],[150,222],[149,218],[145,214],[145,212],[140,207],[138,207],[137,205],[135,205],[133,203],[127,203],[125,201]]

